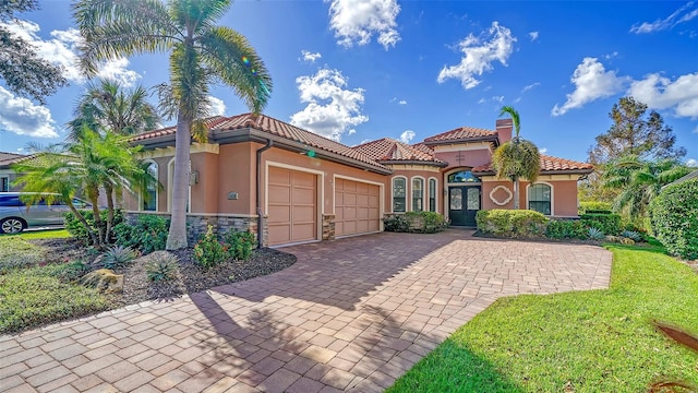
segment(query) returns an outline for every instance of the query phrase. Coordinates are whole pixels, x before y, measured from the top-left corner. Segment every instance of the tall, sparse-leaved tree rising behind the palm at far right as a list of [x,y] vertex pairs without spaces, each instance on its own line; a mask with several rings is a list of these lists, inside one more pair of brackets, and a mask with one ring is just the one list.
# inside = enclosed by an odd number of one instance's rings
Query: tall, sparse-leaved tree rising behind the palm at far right
[[613,104],[609,114],[613,123],[605,133],[597,136],[597,144],[589,150],[589,163],[605,164],[624,156],[641,159],[681,159],[686,155],[677,147],[676,135],[655,110],[647,112],[647,105],[633,97],[622,97]]

